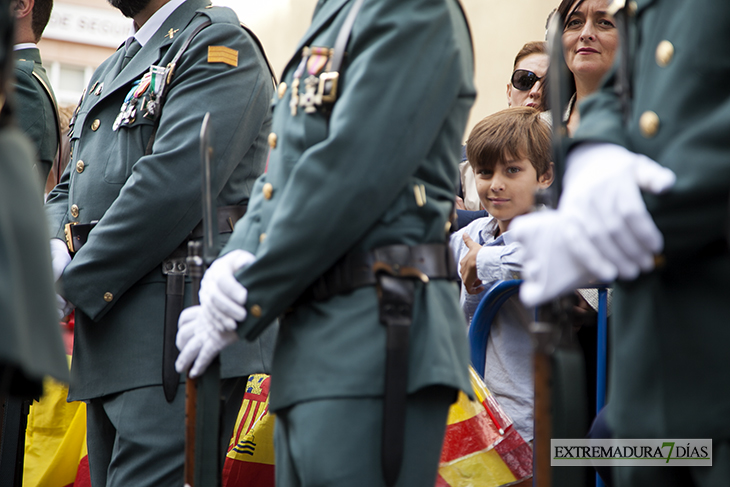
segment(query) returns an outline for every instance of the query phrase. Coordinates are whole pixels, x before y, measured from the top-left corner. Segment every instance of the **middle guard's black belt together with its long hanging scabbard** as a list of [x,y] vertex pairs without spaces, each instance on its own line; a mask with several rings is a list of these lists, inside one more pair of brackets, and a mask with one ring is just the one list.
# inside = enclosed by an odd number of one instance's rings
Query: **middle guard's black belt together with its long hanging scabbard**
[[388,245],[347,254],[303,295],[324,301],[362,286],[378,288],[378,316],[386,328],[381,464],[388,487],[397,482],[403,461],[415,282],[455,278],[456,264],[447,244]]

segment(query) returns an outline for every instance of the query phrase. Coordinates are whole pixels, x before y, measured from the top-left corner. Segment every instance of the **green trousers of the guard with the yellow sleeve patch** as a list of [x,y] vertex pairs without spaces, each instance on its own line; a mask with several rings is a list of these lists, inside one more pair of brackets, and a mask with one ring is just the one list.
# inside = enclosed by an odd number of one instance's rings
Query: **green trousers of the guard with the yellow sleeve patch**
[[[221,381],[220,467],[228,449],[246,377]],[[185,465],[185,383],[168,403],[162,386],[87,401],[87,445],[92,487],[180,487]]]

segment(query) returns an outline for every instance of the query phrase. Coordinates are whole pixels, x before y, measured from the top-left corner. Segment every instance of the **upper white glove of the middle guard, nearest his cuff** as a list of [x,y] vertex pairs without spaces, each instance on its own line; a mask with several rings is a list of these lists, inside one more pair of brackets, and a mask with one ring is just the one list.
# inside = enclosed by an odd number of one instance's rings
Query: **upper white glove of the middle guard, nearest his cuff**
[[219,332],[233,331],[239,321],[246,319],[248,291],[234,273],[254,260],[252,253],[234,250],[216,259],[205,271],[200,283],[200,305],[205,320]]

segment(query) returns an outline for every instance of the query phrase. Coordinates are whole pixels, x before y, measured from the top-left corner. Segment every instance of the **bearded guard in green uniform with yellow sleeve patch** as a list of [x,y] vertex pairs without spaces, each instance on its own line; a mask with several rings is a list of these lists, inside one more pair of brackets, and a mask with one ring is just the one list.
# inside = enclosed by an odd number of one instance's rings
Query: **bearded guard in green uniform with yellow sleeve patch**
[[[113,3],[136,33],[91,77],[46,204],[54,267],[68,261],[59,246],[74,253],[59,297],[62,314],[76,309],[69,400],[88,404],[95,486],[179,487],[185,377],[174,340],[191,298],[187,242],[202,236],[201,123],[210,112],[218,231],[230,233],[264,169],[273,83],[230,9]],[[222,376],[268,372],[275,333],[224,354]]]

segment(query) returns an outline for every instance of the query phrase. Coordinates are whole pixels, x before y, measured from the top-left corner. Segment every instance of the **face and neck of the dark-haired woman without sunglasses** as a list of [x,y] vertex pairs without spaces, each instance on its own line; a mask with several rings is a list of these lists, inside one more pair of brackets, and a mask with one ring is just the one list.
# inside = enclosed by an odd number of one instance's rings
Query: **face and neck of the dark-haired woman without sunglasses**
[[616,23],[607,12],[609,0],[563,0],[558,13],[563,24],[563,53],[573,73],[573,97],[565,112],[568,133],[580,123],[576,103],[598,89],[613,65],[618,47]]

